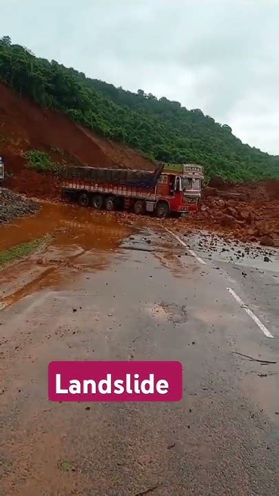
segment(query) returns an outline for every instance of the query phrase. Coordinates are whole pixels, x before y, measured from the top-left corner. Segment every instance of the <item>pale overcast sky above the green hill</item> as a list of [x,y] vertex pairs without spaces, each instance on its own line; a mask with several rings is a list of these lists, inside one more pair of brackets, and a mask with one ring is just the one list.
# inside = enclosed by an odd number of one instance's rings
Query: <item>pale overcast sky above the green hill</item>
[[279,154],[279,0],[0,0],[0,36]]

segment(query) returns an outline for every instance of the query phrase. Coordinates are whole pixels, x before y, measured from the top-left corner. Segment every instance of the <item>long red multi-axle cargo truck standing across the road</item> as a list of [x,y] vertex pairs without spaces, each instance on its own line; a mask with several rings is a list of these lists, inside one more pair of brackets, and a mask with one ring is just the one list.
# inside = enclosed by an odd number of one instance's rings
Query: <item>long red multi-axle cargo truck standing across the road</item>
[[160,163],[154,172],[95,167],[66,167],[61,197],[79,205],[113,211],[153,212],[158,218],[198,210],[203,167]]

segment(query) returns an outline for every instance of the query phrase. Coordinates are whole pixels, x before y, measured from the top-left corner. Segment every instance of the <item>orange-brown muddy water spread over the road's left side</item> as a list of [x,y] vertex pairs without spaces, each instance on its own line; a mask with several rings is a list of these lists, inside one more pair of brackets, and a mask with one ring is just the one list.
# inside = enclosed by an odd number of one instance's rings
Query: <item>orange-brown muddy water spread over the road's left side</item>
[[43,203],[37,216],[0,226],[0,254],[36,239],[45,244],[0,271],[0,310],[42,289],[69,286],[81,271],[104,269],[134,232],[114,214]]

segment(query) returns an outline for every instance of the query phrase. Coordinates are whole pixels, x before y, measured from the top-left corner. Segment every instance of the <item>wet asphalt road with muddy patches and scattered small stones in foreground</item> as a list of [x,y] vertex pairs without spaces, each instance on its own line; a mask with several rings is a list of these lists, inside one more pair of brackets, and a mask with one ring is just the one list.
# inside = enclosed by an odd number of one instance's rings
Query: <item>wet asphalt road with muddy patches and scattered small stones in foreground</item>
[[[104,219],[67,219],[44,254],[2,273],[0,494],[278,495],[276,254],[229,260],[183,237],[201,264],[160,225]],[[52,360],[180,360],[184,397],[50,403]]]

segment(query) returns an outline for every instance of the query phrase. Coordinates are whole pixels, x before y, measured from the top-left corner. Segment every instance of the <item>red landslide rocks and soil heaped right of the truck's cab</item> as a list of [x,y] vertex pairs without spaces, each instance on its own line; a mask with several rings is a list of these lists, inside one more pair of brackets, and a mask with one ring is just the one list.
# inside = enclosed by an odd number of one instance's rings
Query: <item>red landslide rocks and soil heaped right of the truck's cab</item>
[[218,231],[242,241],[279,245],[279,181],[242,185],[214,183],[203,192],[195,227]]

